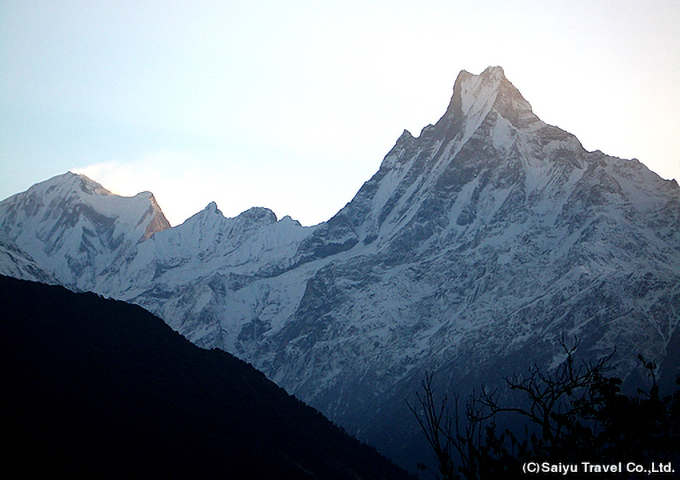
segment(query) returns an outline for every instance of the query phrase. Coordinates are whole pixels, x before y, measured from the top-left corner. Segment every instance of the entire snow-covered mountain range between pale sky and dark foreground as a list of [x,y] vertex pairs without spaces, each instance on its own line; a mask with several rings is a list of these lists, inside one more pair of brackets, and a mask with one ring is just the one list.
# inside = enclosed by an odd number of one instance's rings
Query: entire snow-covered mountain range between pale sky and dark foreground
[[0,203],[2,265],[141,305],[247,360],[408,468],[405,399],[616,348],[675,379],[680,188],[542,122],[501,68],[462,72],[446,112],[404,132],[333,218],[302,227],[215,204],[168,228],[150,194],[74,174]]

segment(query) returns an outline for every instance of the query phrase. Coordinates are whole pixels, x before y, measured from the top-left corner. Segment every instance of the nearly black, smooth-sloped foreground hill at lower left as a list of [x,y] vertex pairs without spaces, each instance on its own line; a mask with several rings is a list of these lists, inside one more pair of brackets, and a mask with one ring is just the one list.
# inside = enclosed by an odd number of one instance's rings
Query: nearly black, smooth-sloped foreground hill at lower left
[[5,455],[79,478],[395,479],[405,472],[137,306],[0,276]]

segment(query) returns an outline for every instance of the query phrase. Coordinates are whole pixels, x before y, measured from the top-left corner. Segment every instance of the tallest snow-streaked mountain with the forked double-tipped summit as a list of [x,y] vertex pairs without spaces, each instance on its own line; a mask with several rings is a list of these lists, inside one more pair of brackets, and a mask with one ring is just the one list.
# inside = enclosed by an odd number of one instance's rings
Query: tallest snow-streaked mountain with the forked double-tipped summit
[[585,151],[501,69],[462,73],[439,122],[303,242],[317,268],[285,328],[236,351],[374,442],[425,371],[490,381],[552,363],[563,334],[616,347],[628,375],[677,329],[679,219],[675,182]]

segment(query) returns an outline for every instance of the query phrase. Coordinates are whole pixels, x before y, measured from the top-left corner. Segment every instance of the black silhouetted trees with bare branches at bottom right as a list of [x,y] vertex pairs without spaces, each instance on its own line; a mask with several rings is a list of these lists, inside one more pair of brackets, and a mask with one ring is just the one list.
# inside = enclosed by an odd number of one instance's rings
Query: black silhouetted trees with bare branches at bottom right
[[[651,387],[628,396],[621,392],[621,379],[605,374],[613,353],[577,363],[579,343],[568,346],[562,339],[560,345],[565,359],[557,368],[546,371],[534,365],[524,375],[506,378],[502,392],[473,392],[464,409],[457,395],[453,402],[446,395],[437,400],[432,375],[426,375],[416,405],[409,408],[441,478],[503,478],[520,473],[528,461],[680,460],[680,390],[660,395],[655,363],[639,356]],[[501,430],[501,418],[513,427]]]

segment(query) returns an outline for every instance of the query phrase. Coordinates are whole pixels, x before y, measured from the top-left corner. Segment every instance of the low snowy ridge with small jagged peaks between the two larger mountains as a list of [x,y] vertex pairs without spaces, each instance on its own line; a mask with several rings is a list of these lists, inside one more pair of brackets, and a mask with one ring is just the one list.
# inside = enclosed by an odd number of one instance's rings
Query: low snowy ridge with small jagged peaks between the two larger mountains
[[[211,203],[140,244],[130,262],[101,276],[97,291],[159,314],[198,345],[236,351],[241,330],[255,318],[276,311],[283,322],[292,314],[290,290],[300,287],[279,277],[313,230],[290,217],[277,221],[265,208],[225,218]],[[285,308],[274,305],[277,295]]]

